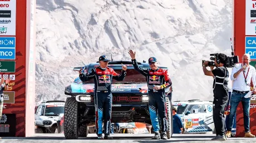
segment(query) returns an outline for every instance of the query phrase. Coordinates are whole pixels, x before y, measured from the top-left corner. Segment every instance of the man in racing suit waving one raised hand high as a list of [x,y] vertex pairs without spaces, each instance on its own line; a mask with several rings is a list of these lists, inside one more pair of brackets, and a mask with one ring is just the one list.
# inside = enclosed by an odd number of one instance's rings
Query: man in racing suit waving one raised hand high
[[[135,70],[139,71],[142,75],[146,77],[147,88],[149,89],[149,112],[152,126],[154,128],[155,136],[152,137],[154,140],[167,140],[166,135],[166,103],[165,103],[165,88],[172,85],[168,71],[157,66],[157,61],[155,57],[149,58],[149,65],[151,69],[142,69],[136,62],[135,52],[132,50],[129,51],[129,54],[132,58],[132,65]],[[164,83],[165,81],[165,83]],[[159,122],[157,119],[157,112],[162,125],[162,134],[160,135]]]

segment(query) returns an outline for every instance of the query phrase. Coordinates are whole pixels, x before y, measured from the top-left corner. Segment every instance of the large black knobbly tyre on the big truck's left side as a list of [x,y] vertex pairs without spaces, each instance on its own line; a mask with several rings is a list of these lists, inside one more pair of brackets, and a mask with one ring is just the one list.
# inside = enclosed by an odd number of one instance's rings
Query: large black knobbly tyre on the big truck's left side
[[78,139],[79,103],[75,97],[67,97],[64,112],[64,135],[66,139]]

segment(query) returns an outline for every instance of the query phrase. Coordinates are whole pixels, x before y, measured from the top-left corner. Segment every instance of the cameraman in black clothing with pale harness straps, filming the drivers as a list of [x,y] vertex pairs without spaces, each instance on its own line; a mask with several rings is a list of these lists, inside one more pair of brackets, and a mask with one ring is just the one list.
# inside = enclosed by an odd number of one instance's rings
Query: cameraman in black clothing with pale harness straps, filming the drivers
[[228,77],[229,72],[225,67],[227,56],[223,53],[214,54],[214,65],[210,65],[211,71],[206,69],[209,61],[203,63],[203,71],[206,76],[213,76],[213,121],[216,130],[216,137],[211,140],[227,140],[224,129],[224,110],[228,102]]

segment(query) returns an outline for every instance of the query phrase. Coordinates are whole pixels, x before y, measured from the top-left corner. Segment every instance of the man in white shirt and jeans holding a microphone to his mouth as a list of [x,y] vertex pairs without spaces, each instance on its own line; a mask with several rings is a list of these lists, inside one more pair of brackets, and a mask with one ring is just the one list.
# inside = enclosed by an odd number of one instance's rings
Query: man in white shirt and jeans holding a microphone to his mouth
[[[230,114],[229,114],[229,122],[227,125],[227,133],[226,136],[231,136],[232,126],[234,124],[234,116],[237,111],[237,106],[240,101],[242,101],[243,105],[243,114],[244,114],[244,137],[255,137],[250,133],[250,97],[245,98],[244,96],[250,91],[250,82],[253,81],[253,87],[256,87],[256,72],[253,66],[249,65],[250,55],[244,54],[242,57],[242,63],[237,64],[232,69],[231,80],[233,82],[233,91],[230,98]],[[256,88],[253,89],[253,93],[256,93]]]

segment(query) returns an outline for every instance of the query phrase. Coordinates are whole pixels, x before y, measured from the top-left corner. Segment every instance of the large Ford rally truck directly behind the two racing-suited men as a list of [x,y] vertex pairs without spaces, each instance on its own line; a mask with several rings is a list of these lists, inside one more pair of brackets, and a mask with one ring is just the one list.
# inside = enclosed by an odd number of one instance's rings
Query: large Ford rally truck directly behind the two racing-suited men
[[[126,77],[123,81],[112,80],[112,123],[122,122],[145,122],[151,124],[149,115],[149,97],[147,93],[147,82],[145,76],[137,72],[131,61],[110,61],[109,66],[120,73],[122,65],[127,66]],[[148,63],[138,62],[141,68],[150,68]],[[90,63],[85,66],[84,73],[90,72],[92,68],[98,67],[99,62]],[[166,67],[160,67],[167,69]],[[79,71],[81,67],[73,68]],[[66,139],[78,139],[88,135],[88,127],[95,125],[95,105],[94,105],[94,81],[82,82],[78,77],[65,87],[67,97],[64,114],[64,134]],[[102,76],[102,78],[105,78]],[[154,80],[157,80],[154,78]],[[159,80],[159,79],[158,79]],[[173,134],[173,115],[171,110],[171,98],[168,97],[171,90],[165,89],[166,106],[168,117],[168,139]],[[170,99],[169,99],[170,98]],[[103,118],[104,119],[104,118]],[[161,124],[161,122],[160,122]],[[161,127],[161,125],[160,125]]]

